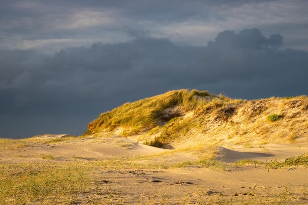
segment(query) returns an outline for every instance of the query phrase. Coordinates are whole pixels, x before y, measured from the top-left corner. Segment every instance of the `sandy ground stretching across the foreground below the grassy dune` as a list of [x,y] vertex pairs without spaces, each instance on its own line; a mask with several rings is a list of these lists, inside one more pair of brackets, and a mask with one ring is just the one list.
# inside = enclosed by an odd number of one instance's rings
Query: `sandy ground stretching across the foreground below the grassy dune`
[[[0,173],[2,204],[308,204],[308,165],[266,167],[275,157],[283,161],[308,153],[307,143],[211,150],[198,146],[196,151],[165,150],[116,135],[44,135],[22,144],[1,145],[0,165],[12,172]],[[11,178],[30,165],[54,166],[53,170],[78,167],[76,172],[85,173],[87,184],[69,195],[51,190],[46,196],[25,192],[19,199],[22,193],[15,192],[9,197],[5,183],[14,189]],[[57,198],[48,196],[55,193]]]

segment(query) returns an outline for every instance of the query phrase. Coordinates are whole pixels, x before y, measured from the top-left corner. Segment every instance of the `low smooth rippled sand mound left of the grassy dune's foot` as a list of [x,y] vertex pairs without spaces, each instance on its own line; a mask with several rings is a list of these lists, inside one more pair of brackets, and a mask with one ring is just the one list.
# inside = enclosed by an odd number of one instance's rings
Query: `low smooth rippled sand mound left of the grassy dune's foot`
[[[164,149],[146,146],[116,135],[89,138],[63,138],[69,135],[45,135],[31,138],[28,144],[15,150],[0,150],[0,162],[40,161],[42,155],[52,155],[57,160],[126,157],[153,154]],[[57,142],[57,140],[63,140]],[[48,143],[46,143],[48,142]]]

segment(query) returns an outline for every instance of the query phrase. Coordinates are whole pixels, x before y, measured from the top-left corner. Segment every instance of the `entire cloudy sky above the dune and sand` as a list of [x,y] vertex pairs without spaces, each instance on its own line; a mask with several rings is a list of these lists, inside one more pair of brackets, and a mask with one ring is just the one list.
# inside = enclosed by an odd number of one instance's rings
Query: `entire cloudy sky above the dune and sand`
[[308,95],[307,0],[0,0],[0,137],[189,88]]

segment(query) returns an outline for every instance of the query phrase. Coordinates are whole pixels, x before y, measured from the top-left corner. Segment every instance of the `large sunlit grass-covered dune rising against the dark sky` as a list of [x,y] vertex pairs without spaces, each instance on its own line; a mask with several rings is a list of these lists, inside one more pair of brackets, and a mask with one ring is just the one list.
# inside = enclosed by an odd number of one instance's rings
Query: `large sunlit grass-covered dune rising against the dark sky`
[[172,90],[101,114],[86,133],[121,128],[124,137],[141,134],[139,141],[164,148],[179,146],[177,142],[186,138],[190,141],[190,136],[230,146],[251,141],[295,143],[308,135],[307,105],[307,96],[247,101],[207,91]]

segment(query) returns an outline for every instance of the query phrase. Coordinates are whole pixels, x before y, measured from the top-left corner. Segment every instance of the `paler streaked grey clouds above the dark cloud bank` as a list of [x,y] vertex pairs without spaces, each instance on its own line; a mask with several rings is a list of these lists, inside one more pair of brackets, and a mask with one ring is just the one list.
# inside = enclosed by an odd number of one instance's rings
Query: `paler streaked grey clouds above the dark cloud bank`
[[221,30],[253,25],[308,51],[307,10],[307,0],[0,0],[0,47],[53,54],[138,36],[206,46]]

